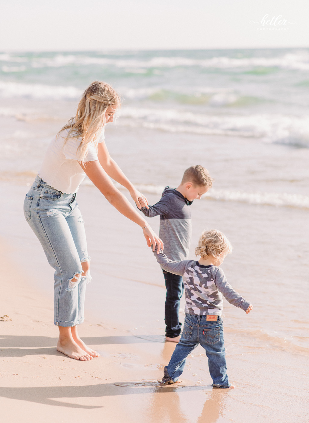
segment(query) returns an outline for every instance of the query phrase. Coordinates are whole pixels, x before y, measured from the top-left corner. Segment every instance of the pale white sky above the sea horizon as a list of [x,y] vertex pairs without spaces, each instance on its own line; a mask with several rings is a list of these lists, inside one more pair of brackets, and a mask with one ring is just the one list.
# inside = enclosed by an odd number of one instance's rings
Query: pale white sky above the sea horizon
[[0,0],[0,10],[2,52],[309,47],[308,0]]

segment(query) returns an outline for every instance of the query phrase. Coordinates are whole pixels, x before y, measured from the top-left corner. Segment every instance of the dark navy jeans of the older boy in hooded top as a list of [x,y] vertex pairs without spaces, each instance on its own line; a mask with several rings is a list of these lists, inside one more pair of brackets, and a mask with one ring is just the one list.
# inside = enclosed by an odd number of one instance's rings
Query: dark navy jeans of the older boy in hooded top
[[179,275],[163,270],[166,286],[165,300],[165,335],[169,338],[176,338],[181,333],[179,321],[180,298],[183,295],[183,278]]

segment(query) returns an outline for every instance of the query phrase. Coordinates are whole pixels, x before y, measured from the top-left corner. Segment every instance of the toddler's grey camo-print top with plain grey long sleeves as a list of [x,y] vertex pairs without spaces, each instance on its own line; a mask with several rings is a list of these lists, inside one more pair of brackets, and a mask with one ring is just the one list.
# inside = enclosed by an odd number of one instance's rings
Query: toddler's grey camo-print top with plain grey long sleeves
[[250,302],[230,286],[220,267],[202,266],[194,260],[172,261],[162,253],[162,250],[157,254],[157,248],[154,255],[162,269],[183,277],[186,294],[185,313],[221,316],[222,295],[230,304],[244,311],[248,309]]

